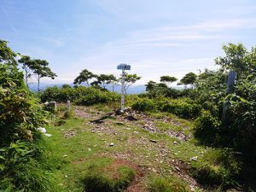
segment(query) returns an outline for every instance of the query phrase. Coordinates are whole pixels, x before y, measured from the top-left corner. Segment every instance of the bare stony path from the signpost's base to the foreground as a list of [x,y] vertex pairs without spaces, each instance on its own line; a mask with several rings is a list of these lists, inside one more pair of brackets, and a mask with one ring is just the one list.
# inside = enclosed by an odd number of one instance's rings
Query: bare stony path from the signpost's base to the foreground
[[[137,177],[127,189],[127,192],[144,191],[144,177],[148,172],[158,173],[163,177],[172,174],[188,183],[191,191],[203,190],[200,184],[189,175],[189,160],[175,158],[173,155],[180,152],[170,147],[169,140],[168,142],[165,142],[163,139],[159,141],[157,137],[165,135],[174,139],[172,142],[174,147],[182,143],[188,143],[192,137],[191,134],[171,128],[162,130],[159,125],[156,125],[156,122],[160,122],[174,127],[183,126],[177,119],[167,116],[152,117],[144,113],[132,111],[131,109],[127,110],[123,115],[117,115],[112,112],[98,111],[96,108],[77,107],[74,113],[79,118],[88,119],[86,125],[90,127],[91,133],[113,137],[112,143],[106,143],[109,145],[109,148],[115,147],[115,140],[122,142],[122,149],[120,151],[106,151],[97,155],[112,156],[117,162],[135,167]],[[143,132],[138,129],[141,129]],[[148,138],[147,133],[144,132],[148,132],[156,137]],[[64,137],[75,136],[76,132],[73,130],[68,130],[64,133]],[[198,156],[190,157],[190,161],[196,161],[197,159]]]

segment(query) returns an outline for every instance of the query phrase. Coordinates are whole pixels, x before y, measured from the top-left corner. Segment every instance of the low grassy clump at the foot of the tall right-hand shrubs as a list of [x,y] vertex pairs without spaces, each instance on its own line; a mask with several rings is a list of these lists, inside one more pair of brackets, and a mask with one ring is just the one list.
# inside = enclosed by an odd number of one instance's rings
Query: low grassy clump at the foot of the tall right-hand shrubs
[[204,163],[194,163],[189,170],[199,183],[218,189],[239,186],[241,165],[229,148],[214,150],[204,159]]

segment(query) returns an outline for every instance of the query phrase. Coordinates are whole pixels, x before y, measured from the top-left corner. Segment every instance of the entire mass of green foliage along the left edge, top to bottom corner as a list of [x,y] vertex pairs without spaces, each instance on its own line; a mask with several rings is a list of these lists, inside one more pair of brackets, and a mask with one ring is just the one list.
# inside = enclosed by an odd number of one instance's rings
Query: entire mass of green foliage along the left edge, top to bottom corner
[[16,54],[0,45],[0,190],[49,191],[36,144],[44,113],[26,89]]

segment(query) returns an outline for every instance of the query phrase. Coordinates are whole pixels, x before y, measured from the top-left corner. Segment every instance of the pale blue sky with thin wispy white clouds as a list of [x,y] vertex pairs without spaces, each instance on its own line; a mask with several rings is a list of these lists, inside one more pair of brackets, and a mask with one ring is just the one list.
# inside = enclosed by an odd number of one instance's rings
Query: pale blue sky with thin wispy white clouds
[[216,68],[223,44],[256,45],[255,0],[0,0],[0,38],[22,55],[49,61],[55,80],[86,68],[178,79]]

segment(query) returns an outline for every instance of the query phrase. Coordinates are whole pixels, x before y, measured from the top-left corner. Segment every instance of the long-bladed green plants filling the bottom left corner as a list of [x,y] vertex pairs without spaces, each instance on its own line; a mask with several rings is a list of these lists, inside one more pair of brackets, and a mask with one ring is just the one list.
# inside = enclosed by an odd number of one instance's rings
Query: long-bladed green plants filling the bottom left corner
[[17,141],[0,148],[0,191],[51,191],[42,150],[33,143]]

